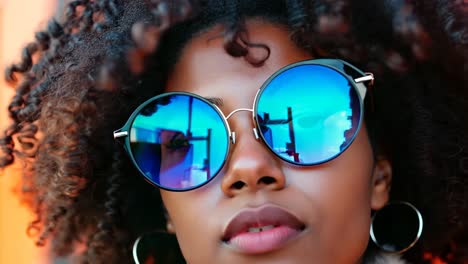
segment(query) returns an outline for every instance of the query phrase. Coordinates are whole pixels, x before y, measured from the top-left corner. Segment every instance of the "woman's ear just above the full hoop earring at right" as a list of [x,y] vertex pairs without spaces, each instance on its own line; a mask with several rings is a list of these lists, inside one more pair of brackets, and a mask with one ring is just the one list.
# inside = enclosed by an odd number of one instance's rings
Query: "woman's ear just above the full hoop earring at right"
[[372,175],[371,208],[381,209],[389,200],[392,186],[392,165],[385,157],[377,157]]

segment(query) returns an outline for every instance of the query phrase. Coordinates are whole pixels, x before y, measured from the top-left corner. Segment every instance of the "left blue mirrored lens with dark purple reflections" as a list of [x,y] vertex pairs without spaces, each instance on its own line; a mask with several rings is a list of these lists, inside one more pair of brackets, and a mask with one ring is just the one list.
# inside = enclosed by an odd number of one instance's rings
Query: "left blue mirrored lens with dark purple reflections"
[[173,94],[141,109],[130,129],[130,147],[148,180],[165,189],[188,190],[207,183],[221,169],[228,134],[211,105]]

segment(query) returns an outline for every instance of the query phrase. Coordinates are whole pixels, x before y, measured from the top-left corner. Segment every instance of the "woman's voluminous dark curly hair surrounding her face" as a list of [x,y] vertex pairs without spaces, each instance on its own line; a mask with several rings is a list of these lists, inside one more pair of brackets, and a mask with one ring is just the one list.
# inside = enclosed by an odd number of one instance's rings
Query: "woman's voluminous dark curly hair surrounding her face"
[[79,262],[125,263],[136,237],[164,227],[162,205],[147,210],[162,204],[159,191],[112,132],[163,91],[184,45],[212,25],[224,25],[227,53],[261,65],[249,49],[268,47],[242,37],[254,17],[284,25],[314,57],[374,73],[368,118],[374,148],[392,162],[391,199],[411,202],[425,219],[405,258],[467,263],[468,5],[457,0],[72,1],[6,69],[16,94],[0,167],[24,161],[37,243],[50,240],[59,256],[85,243]]

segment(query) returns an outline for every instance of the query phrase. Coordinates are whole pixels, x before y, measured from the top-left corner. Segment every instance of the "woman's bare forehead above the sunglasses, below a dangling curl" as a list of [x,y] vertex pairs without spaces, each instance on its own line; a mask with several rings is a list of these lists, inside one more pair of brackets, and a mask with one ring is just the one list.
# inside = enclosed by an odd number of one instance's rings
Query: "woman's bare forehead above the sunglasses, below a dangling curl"
[[[235,79],[238,85],[248,82],[249,85],[255,83],[261,86],[280,68],[311,58],[290,40],[290,32],[282,26],[249,20],[246,22],[246,30],[249,43],[266,45],[270,49],[270,56],[262,66],[255,67],[244,58],[229,55],[223,47],[223,27],[218,25],[187,43],[169,75],[166,91],[187,91],[204,95],[206,89],[200,89],[216,84],[224,86],[228,79]],[[255,57],[263,57],[266,50],[250,48],[249,53]]]

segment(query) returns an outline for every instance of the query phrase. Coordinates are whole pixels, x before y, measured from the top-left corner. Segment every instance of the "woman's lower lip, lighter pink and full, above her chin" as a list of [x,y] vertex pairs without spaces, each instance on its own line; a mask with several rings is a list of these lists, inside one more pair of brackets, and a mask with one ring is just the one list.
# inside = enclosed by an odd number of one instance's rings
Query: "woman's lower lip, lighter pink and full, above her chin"
[[262,232],[245,232],[227,241],[227,244],[246,254],[261,254],[277,250],[302,231],[288,226],[278,226]]

